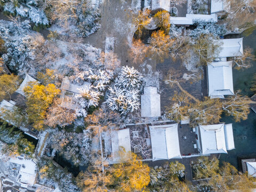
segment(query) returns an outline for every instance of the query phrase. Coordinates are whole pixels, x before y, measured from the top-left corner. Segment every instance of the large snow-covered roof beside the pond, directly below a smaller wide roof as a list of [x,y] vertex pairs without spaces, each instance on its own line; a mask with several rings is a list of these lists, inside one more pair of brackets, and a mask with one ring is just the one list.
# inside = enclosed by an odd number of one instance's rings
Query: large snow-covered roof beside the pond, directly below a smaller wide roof
[[211,98],[234,95],[232,61],[207,63],[208,90]]

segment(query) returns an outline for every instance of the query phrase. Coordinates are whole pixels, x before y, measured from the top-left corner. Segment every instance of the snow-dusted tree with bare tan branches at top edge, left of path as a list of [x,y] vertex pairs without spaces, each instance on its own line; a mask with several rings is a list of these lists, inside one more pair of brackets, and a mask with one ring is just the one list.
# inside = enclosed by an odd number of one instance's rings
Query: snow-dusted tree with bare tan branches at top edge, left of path
[[49,17],[53,30],[62,35],[87,37],[100,28],[100,0],[52,0]]

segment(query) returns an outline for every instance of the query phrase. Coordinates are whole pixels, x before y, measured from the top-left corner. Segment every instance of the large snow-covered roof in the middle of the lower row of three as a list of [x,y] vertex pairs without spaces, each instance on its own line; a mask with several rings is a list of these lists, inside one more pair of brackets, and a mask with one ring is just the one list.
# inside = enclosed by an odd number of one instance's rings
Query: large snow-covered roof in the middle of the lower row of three
[[149,126],[153,161],[181,158],[178,123]]

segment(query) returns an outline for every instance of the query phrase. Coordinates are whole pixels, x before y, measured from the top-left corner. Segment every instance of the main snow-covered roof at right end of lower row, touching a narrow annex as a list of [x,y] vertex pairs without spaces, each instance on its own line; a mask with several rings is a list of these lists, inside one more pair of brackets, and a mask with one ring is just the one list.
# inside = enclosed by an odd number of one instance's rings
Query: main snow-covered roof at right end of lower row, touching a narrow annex
[[227,153],[224,123],[199,125],[202,154]]

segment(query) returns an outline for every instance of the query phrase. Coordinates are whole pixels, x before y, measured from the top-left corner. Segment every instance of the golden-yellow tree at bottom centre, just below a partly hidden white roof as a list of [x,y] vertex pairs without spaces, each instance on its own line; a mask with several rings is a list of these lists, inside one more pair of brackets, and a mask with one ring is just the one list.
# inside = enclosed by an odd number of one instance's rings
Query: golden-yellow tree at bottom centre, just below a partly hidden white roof
[[120,152],[121,162],[113,167],[115,183],[119,191],[143,191],[150,182],[150,168],[139,161],[134,153]]

